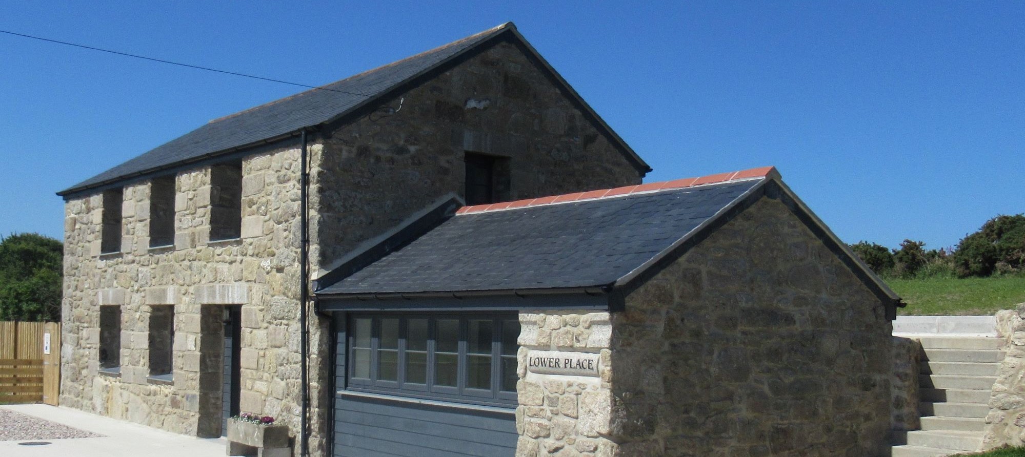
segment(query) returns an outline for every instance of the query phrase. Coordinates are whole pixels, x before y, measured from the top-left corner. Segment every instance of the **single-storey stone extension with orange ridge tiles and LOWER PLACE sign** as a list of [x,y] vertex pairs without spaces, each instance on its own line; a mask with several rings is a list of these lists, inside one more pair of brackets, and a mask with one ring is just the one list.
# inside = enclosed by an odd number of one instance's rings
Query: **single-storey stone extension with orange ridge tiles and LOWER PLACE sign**
[[335,455],[890,455],[899,300],[774,168],[406,226],[318,282]]

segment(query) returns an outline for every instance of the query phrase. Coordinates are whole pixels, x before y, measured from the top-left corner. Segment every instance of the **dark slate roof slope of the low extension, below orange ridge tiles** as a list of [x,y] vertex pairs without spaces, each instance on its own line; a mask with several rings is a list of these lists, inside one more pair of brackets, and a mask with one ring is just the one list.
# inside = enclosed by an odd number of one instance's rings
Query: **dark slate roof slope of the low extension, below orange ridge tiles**
[[457,215],[318,295],[610,285],[763,181]]

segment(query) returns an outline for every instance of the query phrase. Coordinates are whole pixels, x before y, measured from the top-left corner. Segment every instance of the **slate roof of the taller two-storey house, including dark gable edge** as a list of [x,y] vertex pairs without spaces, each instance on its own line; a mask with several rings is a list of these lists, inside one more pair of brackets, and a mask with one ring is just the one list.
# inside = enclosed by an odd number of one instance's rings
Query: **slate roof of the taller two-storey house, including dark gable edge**
[[516,30],[512,23],[463,38],[341,81],[322,86],[331,90],[311,89],[292,96],[214,119],[182,136],[135,157],[121,165],[57,193],[66,196],[130,177],[153,173],[169,166],[216,156],[262,140],[282,137],[304,127],[335,120],[386,95],[393,89],[482,45],[503,33],[519,39],[567,90],[591,114],[626,151],[640,169],[650,171],[644,162],[604,121],[579,98],[572,87],[555,72]]

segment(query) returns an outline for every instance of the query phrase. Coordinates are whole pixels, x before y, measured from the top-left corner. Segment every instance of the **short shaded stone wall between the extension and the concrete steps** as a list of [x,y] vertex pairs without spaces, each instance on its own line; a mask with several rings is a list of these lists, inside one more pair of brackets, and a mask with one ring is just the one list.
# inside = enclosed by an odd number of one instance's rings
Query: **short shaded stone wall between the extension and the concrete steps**
[[893,337],[894,370],[890,377],[893,392],[892,428],[917,430],[921,428],[918,412],[918,372],[921,363],[921,343],[914,338]]

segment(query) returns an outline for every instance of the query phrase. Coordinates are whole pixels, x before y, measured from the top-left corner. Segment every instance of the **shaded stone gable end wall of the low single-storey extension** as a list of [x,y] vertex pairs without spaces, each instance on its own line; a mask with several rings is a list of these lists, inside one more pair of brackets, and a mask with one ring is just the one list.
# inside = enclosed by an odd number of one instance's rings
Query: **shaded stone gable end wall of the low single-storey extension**
[[777,200],[709,235],[611,322],[612,455],[889,455],[884,303]]

